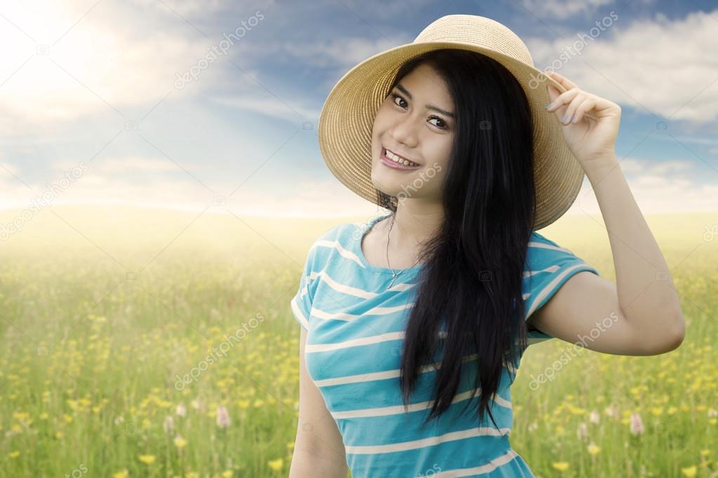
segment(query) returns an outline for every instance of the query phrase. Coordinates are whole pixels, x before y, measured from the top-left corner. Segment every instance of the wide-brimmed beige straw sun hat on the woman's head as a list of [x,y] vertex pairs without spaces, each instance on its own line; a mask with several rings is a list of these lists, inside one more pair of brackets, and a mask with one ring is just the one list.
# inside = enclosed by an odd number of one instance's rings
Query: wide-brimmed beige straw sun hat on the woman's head
[[[386,98],[402,63],[435,49],[465,49],[495,59],[516,77],[528,98],[533,116],[536,222],[541,229],[559,219],[573,204],[584,170],[564,142],[555,115],[547,115],[551,102],[546,82],[559,92],[566,88],[533,67],[528,48],[498,21],[475,15],[447,15],[429,24],[414,42],[394,47],[363,60],[332,88],[322,107],[319,146],[327,166],[342,184],[378,204],[371,182],[371,130],[374,116]],[[391,201],[396,205],[397,199]],[[384,206],[378,204],[378,206]]]

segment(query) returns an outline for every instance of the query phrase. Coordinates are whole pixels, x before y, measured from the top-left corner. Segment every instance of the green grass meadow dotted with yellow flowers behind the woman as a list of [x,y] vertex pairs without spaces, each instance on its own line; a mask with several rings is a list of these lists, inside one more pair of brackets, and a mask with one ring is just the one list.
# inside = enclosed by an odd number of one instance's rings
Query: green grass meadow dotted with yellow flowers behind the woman
[[[362,219],[119,206],[25,219],[0,242],[0,473],[286,477],[298,405],[289,300],[312,240]],[[718,476],[718,214],[647,220],[686,340],[651,357],[582,350],[558,371],[572,345],[532,345],[511,444],[537,477]],[[601,224],[564,216],[541,233],[613,280]]]

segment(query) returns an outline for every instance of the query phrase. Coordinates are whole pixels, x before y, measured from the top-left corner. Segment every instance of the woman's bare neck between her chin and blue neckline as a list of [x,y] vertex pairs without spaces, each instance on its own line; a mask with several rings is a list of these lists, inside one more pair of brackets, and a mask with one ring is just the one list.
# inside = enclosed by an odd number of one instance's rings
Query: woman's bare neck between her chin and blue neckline
[[444,221],[444,207],[440,203],[421,199],[399,201],[391,228],[392,248],[411,250],[431,239]]

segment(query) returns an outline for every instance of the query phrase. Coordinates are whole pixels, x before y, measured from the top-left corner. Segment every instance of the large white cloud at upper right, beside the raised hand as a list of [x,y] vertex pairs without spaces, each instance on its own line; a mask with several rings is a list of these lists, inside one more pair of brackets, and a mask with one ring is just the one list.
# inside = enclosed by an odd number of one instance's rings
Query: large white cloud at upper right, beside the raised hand
[[[554,67],[582,90],[640,113],[700,123],[718,119],[717,18],[718,10],[673,21],[657,15],[629,22],[618,12],[595,39],[582,31],[552,42],[526,39],[526,44],[536,67]],[[581,54],[561,59],[579,35],[586,43]]]

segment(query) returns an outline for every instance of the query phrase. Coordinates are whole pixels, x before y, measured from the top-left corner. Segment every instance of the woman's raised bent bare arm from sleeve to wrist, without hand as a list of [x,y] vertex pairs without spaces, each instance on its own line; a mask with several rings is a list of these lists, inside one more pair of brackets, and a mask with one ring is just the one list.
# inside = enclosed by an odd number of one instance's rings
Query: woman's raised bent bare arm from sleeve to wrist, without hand
[[605,219],[617,284],[579,272],[528,324],[603,353],[658,355],[678,348],[685,323],[676,288],[617,159],[587,176]]

